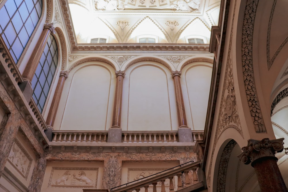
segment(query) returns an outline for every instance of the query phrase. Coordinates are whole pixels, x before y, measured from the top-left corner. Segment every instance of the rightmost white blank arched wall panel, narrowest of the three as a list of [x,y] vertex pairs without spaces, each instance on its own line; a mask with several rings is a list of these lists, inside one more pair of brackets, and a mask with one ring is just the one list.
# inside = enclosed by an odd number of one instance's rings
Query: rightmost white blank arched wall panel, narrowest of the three
[[187,124],[192,130],[204,130],[212,68],[210,63],[194,62],[181,75]]

